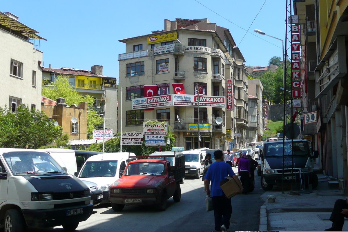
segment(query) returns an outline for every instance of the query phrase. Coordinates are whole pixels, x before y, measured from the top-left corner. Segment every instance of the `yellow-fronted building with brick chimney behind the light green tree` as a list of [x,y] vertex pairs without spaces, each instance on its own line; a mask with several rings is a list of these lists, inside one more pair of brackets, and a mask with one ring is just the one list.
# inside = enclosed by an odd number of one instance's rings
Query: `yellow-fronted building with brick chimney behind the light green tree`
[[[117,88],[116,79],[103,75],[103,66],[93,65],[91,71],[60,67],[59,69],[43,67],[42,84],[49,87],[59,76],[69,79],[70,85],[83,96],[94,97],[94,109],[100,116],[105,115],[105,128],[117,132]],[[106,98],[105,98],[106,95]],[[106,99],[106,101],[105,101]],[[106,103],[106,107],[105,107]]]

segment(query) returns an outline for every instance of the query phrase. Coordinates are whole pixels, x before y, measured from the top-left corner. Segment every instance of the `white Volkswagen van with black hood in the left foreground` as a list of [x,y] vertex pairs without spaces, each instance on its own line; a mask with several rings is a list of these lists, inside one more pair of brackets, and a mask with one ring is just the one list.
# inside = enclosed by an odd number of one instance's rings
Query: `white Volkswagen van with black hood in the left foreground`
[[88,187],[47,152],[0,148],[0,221],[5,231],[60,225],[71,231],[92,211]]

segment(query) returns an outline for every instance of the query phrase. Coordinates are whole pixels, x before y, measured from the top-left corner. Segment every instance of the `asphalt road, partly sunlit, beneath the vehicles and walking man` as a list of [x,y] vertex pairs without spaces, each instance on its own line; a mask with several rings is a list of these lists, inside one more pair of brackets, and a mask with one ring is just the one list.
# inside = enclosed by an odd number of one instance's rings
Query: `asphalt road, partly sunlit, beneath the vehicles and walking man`
[[[233,168],[236,172],[237,168]],[[232,198],[233,213],[231,216],[231,231],[258,231],[260,206],[260,177],[255,171],[256,188],[250,194],[236,195]],[[200,179],[186,178],[181,185],[181,201],[168,199],[167,209],[156,211],[150,206],[125,206],[120,212],[115,212],[110,206],[97,206],[95,213],[87,221],[80,222],[77,231],[132,231],[132,232],[176,232],[176,231],[213,231],[214,213],[206,212],[204,185]],[[40,232],[60,232],[62,227],[40,230]]]

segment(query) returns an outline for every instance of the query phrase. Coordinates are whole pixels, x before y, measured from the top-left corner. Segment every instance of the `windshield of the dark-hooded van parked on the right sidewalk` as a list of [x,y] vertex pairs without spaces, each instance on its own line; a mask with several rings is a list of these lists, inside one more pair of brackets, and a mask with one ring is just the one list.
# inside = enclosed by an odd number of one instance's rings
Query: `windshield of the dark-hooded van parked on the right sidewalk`
[[294,141],[292,147],[288,141],[285,141],[285,146],[283,147],[283,141],[279,141],[277,143],[268,143],[264,145],[264,153],[265,156],[283,156],[291,155],[291,149],[293,150],[294,155],[308,155],[309,148],[306,141]]

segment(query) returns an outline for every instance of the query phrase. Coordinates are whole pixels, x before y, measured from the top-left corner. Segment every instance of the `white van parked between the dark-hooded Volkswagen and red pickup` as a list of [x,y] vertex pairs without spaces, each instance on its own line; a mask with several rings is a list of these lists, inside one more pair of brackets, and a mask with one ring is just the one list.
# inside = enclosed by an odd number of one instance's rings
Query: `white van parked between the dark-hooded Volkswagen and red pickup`
[[129,162],[129,157],[135,156],[129,152],[102,153],[89,157],[82,166],[78,178],[92,181],[103,190],[101,203],[109,203],[110,185],[120,178]]

